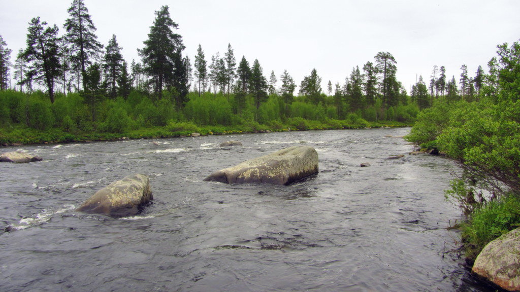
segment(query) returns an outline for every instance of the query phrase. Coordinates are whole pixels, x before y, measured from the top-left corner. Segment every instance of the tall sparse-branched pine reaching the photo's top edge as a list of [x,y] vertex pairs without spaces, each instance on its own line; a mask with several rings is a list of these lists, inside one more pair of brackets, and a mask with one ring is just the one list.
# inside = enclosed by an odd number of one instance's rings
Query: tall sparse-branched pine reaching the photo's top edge
[[[96,26],[90,19],[88,9],[83,0],[73,0],[71,7],[67,10],[69,18],[65,21],[63,28],[67,30],[64,39],[70,45],[73,67],[80,71],[83,78],[91,59],[101,54],[103,45],[97,41]],[[83,81],[83,90],[85,90]]]

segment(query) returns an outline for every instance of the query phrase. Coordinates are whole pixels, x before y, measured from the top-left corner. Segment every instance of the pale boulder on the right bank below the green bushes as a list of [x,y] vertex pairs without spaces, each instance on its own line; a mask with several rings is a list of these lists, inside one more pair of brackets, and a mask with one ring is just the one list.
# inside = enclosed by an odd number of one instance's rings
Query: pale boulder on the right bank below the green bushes
[[472,271],[506,290],[520,291],[520,228],[486,245]]

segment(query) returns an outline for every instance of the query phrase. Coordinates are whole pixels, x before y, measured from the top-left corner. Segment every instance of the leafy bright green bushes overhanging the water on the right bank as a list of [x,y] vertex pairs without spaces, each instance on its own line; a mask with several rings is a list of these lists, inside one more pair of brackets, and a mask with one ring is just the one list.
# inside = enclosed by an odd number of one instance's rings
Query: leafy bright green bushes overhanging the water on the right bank
[[[473,85],[463,67],[460,95],[441,94],[407,136],[461,166],[446,197],[469,219],[462,240],[470,259],[520,226],[520,43],[499,45],[497,54],[489,74],[477,71]],[[453,78],[450,83],[454,90]]]

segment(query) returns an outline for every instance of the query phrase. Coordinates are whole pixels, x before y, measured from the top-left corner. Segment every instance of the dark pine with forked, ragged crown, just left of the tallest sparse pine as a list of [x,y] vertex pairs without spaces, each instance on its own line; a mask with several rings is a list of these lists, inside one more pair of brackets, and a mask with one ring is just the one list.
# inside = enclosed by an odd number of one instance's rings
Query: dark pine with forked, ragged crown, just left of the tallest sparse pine
[[50,102],[54,103],[54,85],[61,76],[58,26],[47,26],[47,22],[40,22],[40,17],[33,18],[23,58],[30,63],[23,82],[34,80],[47,86]]

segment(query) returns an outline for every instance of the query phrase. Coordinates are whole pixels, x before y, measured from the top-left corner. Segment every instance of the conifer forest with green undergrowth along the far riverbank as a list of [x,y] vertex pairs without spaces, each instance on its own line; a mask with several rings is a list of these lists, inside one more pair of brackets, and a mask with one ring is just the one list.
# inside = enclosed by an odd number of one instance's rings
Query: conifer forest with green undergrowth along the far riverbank
[[[408,95],[389,52],[322,89],[316,69],[298,85],[287,70],[268,74],[257,59],[235,56],[230,44],[211,58],[199,45],[190,60],[167,6],[131,62],[115,35],[100,43],[82,0],[67,11],[62,26],[30,20],[12,64],[1,40],[0,144],[402,126],[432,102],[422,78]],[[434,98],[458,96],[441,78]]]

